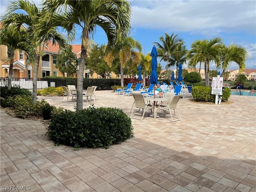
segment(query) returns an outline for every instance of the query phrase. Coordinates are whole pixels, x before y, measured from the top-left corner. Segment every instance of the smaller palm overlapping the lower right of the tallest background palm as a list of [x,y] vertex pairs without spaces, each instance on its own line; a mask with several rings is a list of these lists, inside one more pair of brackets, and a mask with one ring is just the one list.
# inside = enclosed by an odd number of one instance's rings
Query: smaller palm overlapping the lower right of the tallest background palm
[[170,56],[170,63],[168,64],[168,67],[174,66],[176,64],[176,79],[178,78],[178,66],[179,63],[184,64],[186,63],[186,53],[187,53],[186,46],[183,44],[177,44],[176,50],[172,52]]

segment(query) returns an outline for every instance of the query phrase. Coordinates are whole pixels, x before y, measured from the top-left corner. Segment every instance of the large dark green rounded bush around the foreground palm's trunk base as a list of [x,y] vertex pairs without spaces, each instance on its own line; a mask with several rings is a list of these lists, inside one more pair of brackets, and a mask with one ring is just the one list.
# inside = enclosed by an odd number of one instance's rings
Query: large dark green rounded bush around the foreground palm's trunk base
[[104,147],[133,136],[131,119],[118,108],[94,108],[53,112],[46,135],[56,145]]

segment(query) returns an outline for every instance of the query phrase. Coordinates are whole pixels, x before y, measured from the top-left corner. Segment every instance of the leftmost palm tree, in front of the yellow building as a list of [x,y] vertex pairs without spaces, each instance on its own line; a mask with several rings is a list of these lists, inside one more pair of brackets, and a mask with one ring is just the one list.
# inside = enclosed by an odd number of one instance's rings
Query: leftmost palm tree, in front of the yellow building
[[[10,63],[8,73],[8,90],[12,88],[12,74],[13,74],[13,63],[14,63],[14,51],[24,50],[27,53],[31,53],[32,44],[28,38],[27,30],[16,30],[14,25],[9,25],[7,28],[0,30],[0,44],[8,47],[10,52],[10,58],[7,58]],[[28,62],[33,62],[34,57],[29,57]]]

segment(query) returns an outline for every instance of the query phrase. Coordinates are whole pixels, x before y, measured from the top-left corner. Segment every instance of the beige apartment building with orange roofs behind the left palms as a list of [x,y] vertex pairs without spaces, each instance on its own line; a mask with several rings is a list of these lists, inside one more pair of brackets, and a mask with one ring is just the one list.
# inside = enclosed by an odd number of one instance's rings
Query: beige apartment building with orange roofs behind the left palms
[[[52,45],[49,42],[47,45],[41,47],[46,53],[44,56],[40,57],[39,68],[38,68],[38,78],[44,78],[45,76],[67,76],[62,74],[56,67],[57,56],[59,52],[58,45]],[[76,54],[77,58],[80,58],[81,54],[81,44],[72,45],[72,51]],[[4,58],[8,57],[8,48],[5,45],[0,46],[0,77],[7,77],[10,63],[8,60],[4,61]],[[24,51],[16,50],[14,53],[14,65],[13,65],[13,78],[33,78],[33,69],[31,66],[26,67],[26,53]],[[79,65],[79,63],[78,63]],[[78,74],[73,74],[73,77],[77,77]],[[107,78],[117,78],[118,76],[113,72],[108,75]],[[84,70],[84,78],[102,78],[100,75],[94,73],[89,74],[89,70]]]

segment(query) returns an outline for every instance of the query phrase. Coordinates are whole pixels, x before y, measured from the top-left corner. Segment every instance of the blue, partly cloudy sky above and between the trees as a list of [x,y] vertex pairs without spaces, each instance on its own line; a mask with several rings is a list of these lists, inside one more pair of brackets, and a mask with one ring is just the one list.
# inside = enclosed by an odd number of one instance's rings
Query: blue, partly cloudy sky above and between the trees
[[[8,1],[0,1],[0,13],[4,14]],[[41,1],[34,1],[40,4]],[[194,40],[214,37],[223,39],[228,46],[231,43],[246,48],[248,60],[246,69],[256,69],[256,1],[255,0],[130,0],[132,6],[131,36],[143,47],[143,53],[152,50],[154,42],[160,42],[164,33],[178,34],[186,48]],[[80,31],[78,29],[78,31]],[[105,44],[106,35],[99,28],[94,42]],[[73,44],[81,44],[80,34]],[[158,59],[160,62],[160,59]],[[166,63],[161,62],[164,69]],[[183,66],[186,68],[186,64]],[[211,69],[216,69],[214,64]],[[228,69],[238,66],[230,64]],[[172,67],[171,69],[174,69]]]

